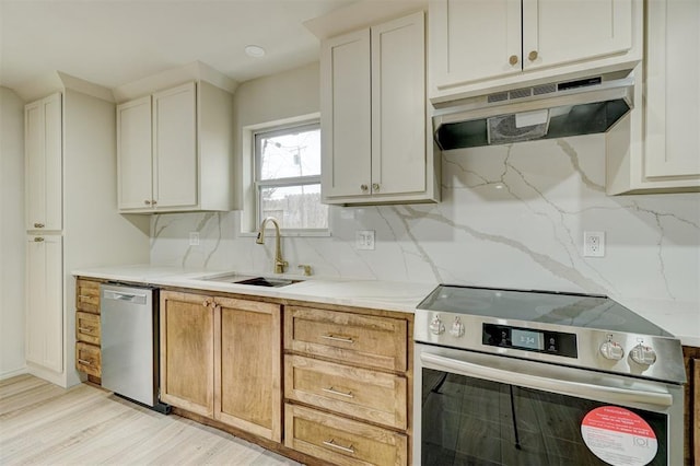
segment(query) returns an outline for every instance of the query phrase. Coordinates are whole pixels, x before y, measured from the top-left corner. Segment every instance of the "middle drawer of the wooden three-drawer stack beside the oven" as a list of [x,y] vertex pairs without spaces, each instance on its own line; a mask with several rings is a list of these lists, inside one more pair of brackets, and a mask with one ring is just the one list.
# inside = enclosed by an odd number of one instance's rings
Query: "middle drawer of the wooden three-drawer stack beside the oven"
[[287,356],[284,396],[375,423],[407,428],[407,382],[399,375]]

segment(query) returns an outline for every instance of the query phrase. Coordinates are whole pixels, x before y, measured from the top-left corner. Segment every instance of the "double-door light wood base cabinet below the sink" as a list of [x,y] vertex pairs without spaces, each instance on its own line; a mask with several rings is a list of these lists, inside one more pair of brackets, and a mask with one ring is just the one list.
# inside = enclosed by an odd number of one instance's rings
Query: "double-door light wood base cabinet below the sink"
[[282,440],[279,304],[161,292],[161,400]]

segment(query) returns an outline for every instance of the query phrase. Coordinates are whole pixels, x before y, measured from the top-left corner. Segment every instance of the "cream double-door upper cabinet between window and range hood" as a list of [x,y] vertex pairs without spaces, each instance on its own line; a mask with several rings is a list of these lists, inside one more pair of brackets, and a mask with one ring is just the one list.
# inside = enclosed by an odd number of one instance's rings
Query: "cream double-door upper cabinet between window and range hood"
[[424,30],[419,12],[322,44],[324,202],[439,199]]

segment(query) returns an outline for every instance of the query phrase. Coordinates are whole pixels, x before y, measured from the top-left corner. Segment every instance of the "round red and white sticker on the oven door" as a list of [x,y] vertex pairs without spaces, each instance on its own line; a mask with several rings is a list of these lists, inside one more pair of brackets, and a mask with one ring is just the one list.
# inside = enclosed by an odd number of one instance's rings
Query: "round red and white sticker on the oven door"
[[588,411],[581,422],[581,435],[598,458],[612,466],[643,466],[658,444],[651,426],[639,415],[618,406]]

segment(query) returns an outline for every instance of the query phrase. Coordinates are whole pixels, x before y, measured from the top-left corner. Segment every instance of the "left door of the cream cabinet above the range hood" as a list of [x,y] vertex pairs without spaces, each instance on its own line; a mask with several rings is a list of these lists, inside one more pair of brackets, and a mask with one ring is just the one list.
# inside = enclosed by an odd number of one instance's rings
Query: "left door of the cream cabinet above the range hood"
[[433,89],[521,72],[520,1],[431,1],[428,21]]

